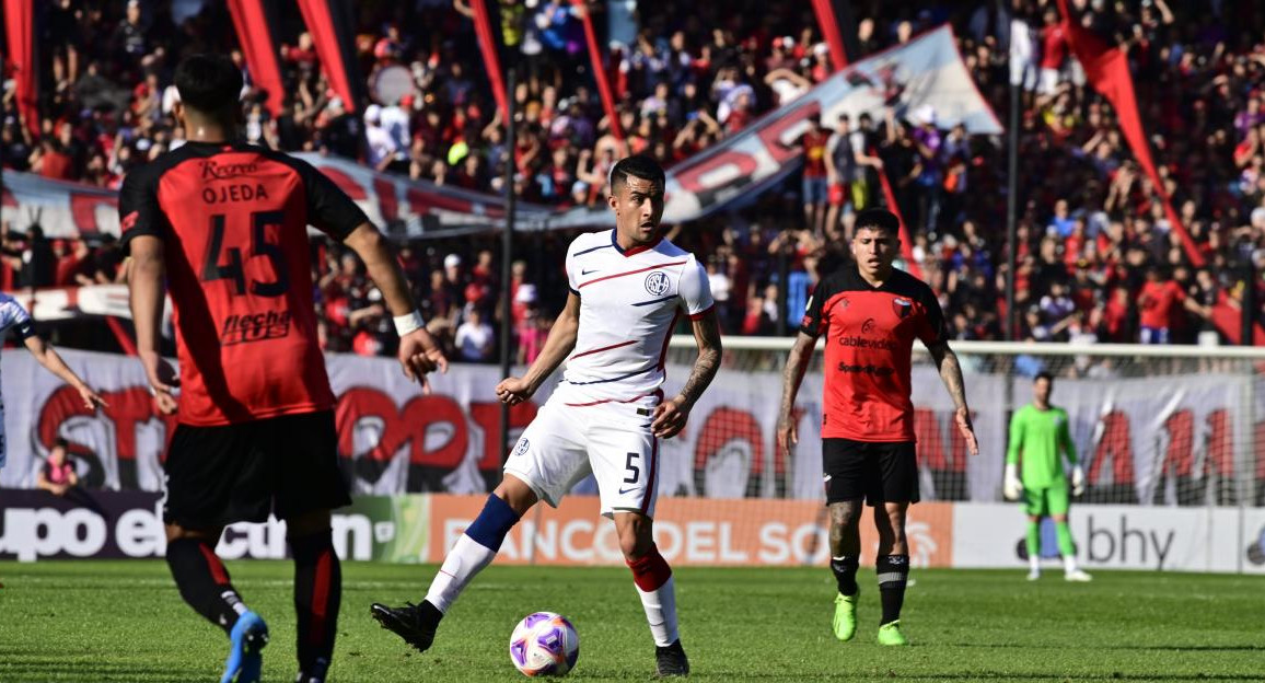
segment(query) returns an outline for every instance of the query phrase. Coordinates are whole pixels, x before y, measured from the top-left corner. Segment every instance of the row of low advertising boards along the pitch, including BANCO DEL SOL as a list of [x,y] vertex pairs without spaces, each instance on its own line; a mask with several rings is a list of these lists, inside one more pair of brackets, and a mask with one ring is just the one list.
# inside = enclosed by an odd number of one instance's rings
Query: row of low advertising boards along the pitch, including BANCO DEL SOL
[[[358,496],[333,516],[343,559],[438,564],[474,520],[484,496],[425,493]],[[1133,569],[1265,574],[1265,510],[1228,507],[1073,506],[1071,534],[1090,570]],[[910,508],[910,564],[1027,570],[1026,517],[1017,503],[922,502]],[[878,546],[861,530],[861,562]],[[829,520],[817,501],[664,498],[655,543],[674,567],[821,567]],[[1052,527],[1042,530],[1042,558],[1061,569]],[[234,524],[215,551],[225,559],[282,559],[286,524]],[[0,559],[143,559],[166,553],[161,496],[85,491],[0,489]],[[622,565],[615,525],[596,496],[536,506],[506,536],[497,563]],[[1017,586],[1017,584],[1016,584]]]

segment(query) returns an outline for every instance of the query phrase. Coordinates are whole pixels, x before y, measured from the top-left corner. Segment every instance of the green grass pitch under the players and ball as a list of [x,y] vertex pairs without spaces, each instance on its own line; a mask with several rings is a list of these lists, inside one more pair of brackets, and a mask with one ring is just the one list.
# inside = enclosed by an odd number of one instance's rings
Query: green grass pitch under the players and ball
[[[649,630],[622,568],[492,567],[417,654],[369,618],[416,600],[431,567],[345,563],[331,680],[522,680],[507,643],[529,612],[568,616],[579,680],[646,680]],[[229,563],[272,630],[264,680],[296,672],[291,565]],[[856,640],[830,635],[825,568],[677,573],[682,636],[702,680],[1262,680],[1265,581],[1108,573],[921,570],[906,598],[908,649],[873,643],[879,607],[863,570]],[[161,562],[0,562],[0,682],[216,680],[226,640],[181,602]]]

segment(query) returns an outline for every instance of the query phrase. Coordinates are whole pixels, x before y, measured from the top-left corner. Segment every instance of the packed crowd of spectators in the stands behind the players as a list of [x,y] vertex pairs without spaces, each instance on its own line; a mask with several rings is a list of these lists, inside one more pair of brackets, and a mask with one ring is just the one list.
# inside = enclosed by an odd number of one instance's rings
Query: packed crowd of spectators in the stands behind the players
[[[51,5],[39,43],[48,49],[40,52],[47,63],[38,138],[19,121],[13,82],[5,83],[8,169],[118,187],[130,168],[182,140],[171,116],[171,76],[181,54],[231,52],[245,68],[226,10],[215,3],[178,20],[163,1]],[[627,16],[605,14],[624,5],[593,3],[589,10],[597,27],[610,27],[626,148],[591,85],[582,10],[563,0],[498,3],[506,63],[519,82],[514,149],[503,140],[466,0],[358,6],[359,58],[371,92],[392,66],[412,80],[402,97],[363,111],[350,111],[334,95],[311,37],[293,25],[282,49],[282,113],[271,118],[267,94],[250,87],[245,137],[490,192],[502,191],[501,169],[512,163],[524,200],[593,205],[620,154],[646,153],[672,164],[831,72],[806,3],[643,1]],[[1003,13],[994,3],[853,5],[863,56],[951,22],[968,70],[1002,120],[1009,80],[1022,82],[1016,338],[1218,339],[1211,306],[1242,296],[1247,259],[1265,272],[1265,8],[1247,0],[1071,3],[1080,22],[1127,48],[1160,175],[1208,261],[1197,269],[1114,113],[1070,54],[1052,0],[1013,0]],[[944,129],[934,110],[920,109],[824,120],[799,144],[807,159],[802,178],[741,210],[672,226],[678,244],[706,259],[726,334],[793,333],[812,282],[840,262],[854,211],[882,201],[882,171],[910,226],[913,258],[956,338],[1003,338],[1012,247],[1004,228],[1004,137]],[[519,240],[525,255],[512,264],[509,320],[521,359],[539,352],[550,314],[560,307],[568,239]],[[6,228],[0,252],[3,288],[123,277],[121,254],[110,240],[46,240]],[[492,238],[401,249],[433,330],[459,358],[495,357],[495,330],[506,319],[495,305],[498,253]],[[319,240],[312,254],[326,348],[391,353],[395,335],[381,295],[367,286],[355,257]],[[1261,283],[1257,276],[1254,286]],[[1265,301],[1265,291],[1256,301]]]

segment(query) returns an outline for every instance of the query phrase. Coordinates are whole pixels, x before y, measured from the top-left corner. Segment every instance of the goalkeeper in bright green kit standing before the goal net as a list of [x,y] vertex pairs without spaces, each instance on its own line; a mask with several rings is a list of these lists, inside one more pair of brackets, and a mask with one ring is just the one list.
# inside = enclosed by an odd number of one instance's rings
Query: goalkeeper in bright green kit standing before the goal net
[[1079,496],[1084,492],[1085,472],[1077,462],[1077,446],[1068,430],[1068,412],[1050,405],[1052,388],[1054,377],[1050,373],[1037,374],[1032,383],[1032,402],[1011,417],[1011,444],[1006,452],[1002,488],[1007,500],[1022,496],[1028,516],[1028,581],[1041,578],[1041,517],[1046,516],[1054,519],[1058,529],[1064,578],[1090,581],[1093,577],[1077,568],[1077,545],[1068,526],[1069,487],[1063,455],[1071,465],[1071,493]]

